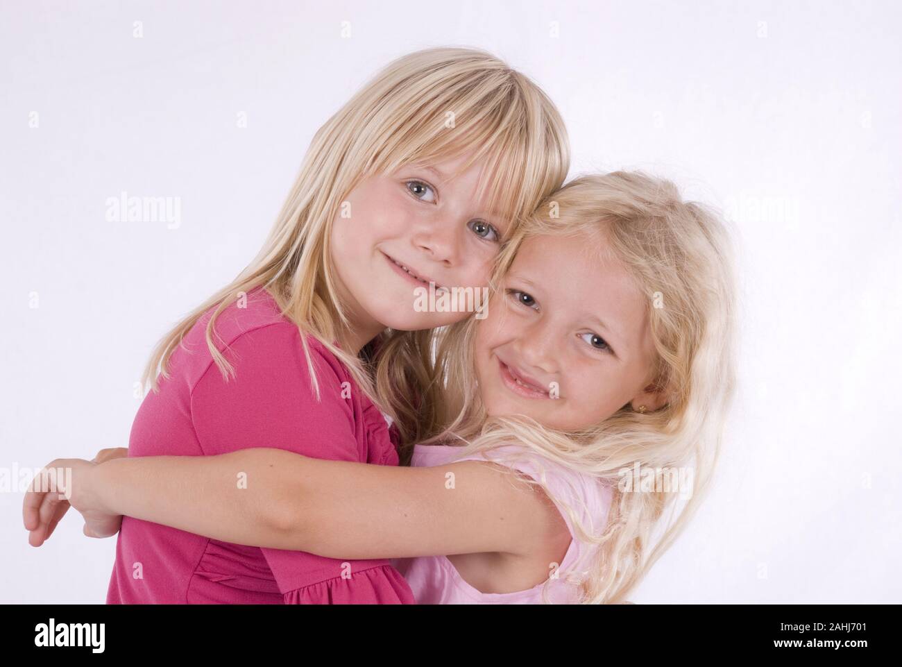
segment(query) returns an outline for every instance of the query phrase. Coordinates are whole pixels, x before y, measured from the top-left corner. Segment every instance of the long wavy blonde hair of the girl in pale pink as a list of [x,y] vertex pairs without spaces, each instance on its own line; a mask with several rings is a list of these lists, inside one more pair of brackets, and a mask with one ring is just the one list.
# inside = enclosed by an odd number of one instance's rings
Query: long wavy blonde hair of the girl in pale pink
[[[684,201],[672,182],[636,171],[567,183],[520,227],[499,270],[510,265],[523,238],[599,238],[599,232],[648,297],[657,352],[654,382],[666,389],[667,404],[646,413],[627,404],[577,433],[551,431],[522,417],[487,419],[473,391],[475,322],[468,320],[446,329],[438,347],[448,396],[456,399],[448,410],[456,418],[449,413],[449,427],[430,442],[460,439],[467,443],[460,456],[483,451],[490,458],[492,449],[520,443],[539,459],[610,484],[612,507],[603,533],[590,534],[576,508],[560,501],[578,538],[599,545],[588,550],[594,552],[588,576],[562,574],[577,584],[586,603],[621,603],[685,528],[711,480],[735,385],[735,283],[730,234],[719,213]],[[676,497],[666,490],[620,488],[620,471],[637,462],[642,468],[694,468],[692,496],[679,514]]]

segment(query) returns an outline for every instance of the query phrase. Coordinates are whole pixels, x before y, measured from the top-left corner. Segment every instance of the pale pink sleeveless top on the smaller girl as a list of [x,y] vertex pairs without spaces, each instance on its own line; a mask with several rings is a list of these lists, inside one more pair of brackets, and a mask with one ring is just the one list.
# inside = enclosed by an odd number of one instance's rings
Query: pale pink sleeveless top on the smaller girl
[[[589,475],[576,473],[548,459],[542,459],[519,445],[492,449],[484,455],[458,458],[460,449],[448,445],[417,445],[410,465],[433,468],[474,459],[504,463],[537,481],[544,481],[555,496],[558,508],[562,508],[559,501],[563,500],[574,509],[589,533],[603,533],[611,508],[611,486],[602,484]],[[545,595],[552,604],[575,604],[578,602],[577,588],[568,580],[567,575],[579,579],[583,576],[582,573],[589,571],[597,548],[576,539],[577,533],[566,510],[562,509],[561,515],[570,529],[571,541],[557,569],[549,570],[551,576]],[[546,601],[543,598],[544,583],[515,593],[483,593],[466,583],[446,556],[424,556],[392,562],[404,575],[404,579],[407,579],[414,598],[417,598],[420,605],[529,605]]]

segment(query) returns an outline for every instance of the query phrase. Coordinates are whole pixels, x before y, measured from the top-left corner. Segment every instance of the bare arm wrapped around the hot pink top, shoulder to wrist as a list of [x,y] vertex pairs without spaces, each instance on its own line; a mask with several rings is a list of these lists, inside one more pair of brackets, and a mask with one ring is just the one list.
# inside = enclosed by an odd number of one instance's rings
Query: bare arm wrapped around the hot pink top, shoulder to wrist
[[89,475],[87,502],[110,514],[331,558],[524,554],[566,530],[544,492],[479,461],[398,468],[243,449],[113,459]]

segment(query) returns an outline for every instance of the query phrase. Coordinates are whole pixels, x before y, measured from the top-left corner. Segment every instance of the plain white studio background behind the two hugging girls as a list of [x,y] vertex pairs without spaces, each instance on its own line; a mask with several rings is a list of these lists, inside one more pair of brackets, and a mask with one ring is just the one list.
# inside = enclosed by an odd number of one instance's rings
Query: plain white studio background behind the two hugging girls
[[[632,599],[902,602],[897,5],[320,5],[0,5],[0,468],[126,446],[153,343],[253,258],[318,126],[392,58],[473,45],[555,100],[571,175],[653,171],[738,231],[723,467]],[[107,222],[122,191],[180,226]],[[102,603],[115,540],[73,513],[33,549],[21,504],[0,601]]]

